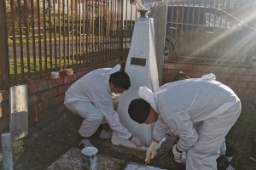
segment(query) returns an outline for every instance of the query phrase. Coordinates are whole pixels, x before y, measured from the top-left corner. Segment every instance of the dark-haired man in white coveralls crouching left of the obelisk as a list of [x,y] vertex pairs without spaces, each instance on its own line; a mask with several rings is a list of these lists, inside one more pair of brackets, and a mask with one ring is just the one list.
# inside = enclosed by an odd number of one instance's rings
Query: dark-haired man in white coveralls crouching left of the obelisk
[[82,137],[90,137],[106,121],[109,127],[118,132],[119,137],[129,139],[140,147],[144,145],[143,141],[131,135],[113,109],[112,93],[122,94],[131,86],[129,76],[120,69],[120,65],[115,65],[113,69],[90,71],[67,89],[64,105],[84,118],[79,128]]

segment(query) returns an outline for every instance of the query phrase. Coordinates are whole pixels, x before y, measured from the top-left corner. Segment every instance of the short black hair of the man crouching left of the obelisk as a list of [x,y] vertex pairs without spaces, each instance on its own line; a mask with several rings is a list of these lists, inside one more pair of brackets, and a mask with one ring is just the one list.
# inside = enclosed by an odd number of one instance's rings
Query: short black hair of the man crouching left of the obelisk
[[117,88],[128,90],[131,86],[130,78],[125,71],[118,71],[110,75],[109,82],[113,82]]

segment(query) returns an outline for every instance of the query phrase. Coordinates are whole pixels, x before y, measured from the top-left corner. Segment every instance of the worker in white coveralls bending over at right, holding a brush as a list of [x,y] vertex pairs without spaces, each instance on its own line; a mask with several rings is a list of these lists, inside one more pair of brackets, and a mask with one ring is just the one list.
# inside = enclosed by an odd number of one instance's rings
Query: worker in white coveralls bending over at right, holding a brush
[[226,134],[240,116],[241,102],[229,87],[214,79],[210,74],[169,82],[154,94],[147,87],[139,89],[143,99],[133,99],[128,113],[135,122],[155,122],[146,160],[154,158],[159,141],[170,128],[179,137],[172,148],[175,161],[182,162],[185,155],[187,170],[217,169],[216,159]]

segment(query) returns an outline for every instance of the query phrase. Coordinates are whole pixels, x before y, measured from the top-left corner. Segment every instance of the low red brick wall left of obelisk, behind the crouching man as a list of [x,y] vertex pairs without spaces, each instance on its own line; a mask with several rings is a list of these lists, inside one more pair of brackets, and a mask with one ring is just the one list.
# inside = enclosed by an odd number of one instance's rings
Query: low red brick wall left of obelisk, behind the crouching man
[[[45,78],[38,82],[29,82],[28,87],[28,106],[29,106],[29,126],[36,124],[35,117],[38,115],[38,121],[44,126],[50,120],[62,116],[65,107],[62,105],[64,94],[67,88],[80,77],[83,77],[89,71],[97,68],[113,67],[114,63],[91,66],[83,71],[74,72],[71,76],[61,76],[58,79]],[[0,133],[9,129],[9,94],[8,90],[0,91],[0,103],[6,105],[0,107]]]

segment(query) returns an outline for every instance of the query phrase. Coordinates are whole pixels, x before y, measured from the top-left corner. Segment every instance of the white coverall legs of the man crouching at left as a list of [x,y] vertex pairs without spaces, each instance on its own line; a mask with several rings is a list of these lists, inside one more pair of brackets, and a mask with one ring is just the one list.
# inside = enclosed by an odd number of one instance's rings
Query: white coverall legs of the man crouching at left
[[105,122],[102,112],[91,102],[75,101],[67,103],[65,106],[69,111],[84,118],[79,128],[79,134],[83,137],[90,137]]

